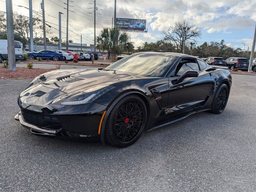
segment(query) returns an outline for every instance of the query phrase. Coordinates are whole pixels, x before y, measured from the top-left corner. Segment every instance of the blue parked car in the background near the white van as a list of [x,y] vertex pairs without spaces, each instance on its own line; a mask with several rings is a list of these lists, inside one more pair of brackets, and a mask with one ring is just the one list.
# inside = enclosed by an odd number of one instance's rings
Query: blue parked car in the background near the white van
[[64,56],[62,54],[56,53],[51,50],[42,50],[42,51],[35,52],[35,53],[30,52],[30,53],[27,53],[27,55],[28,55],[28,59],[30,59],[30,60],[34,60],[37,57],[40,57],[43,60],[46,60],[46,59],[50,59],[53,61],[64,60]]

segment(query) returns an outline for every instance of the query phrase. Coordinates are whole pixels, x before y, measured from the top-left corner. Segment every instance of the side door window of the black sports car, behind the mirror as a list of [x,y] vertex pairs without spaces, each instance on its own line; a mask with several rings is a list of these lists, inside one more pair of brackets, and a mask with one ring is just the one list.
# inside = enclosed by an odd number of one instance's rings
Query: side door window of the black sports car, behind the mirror
[[184,58],[177,66],[175,71],[175,76],[181,76],[184,72],[188,70],[196,70],[199,72],[199,67],[196,59]]

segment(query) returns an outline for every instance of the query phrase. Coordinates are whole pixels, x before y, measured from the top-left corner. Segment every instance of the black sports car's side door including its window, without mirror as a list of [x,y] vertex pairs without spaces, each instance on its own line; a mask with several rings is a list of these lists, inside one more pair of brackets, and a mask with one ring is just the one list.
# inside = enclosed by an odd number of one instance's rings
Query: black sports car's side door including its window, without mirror
[[[198,62],[200,62],[200,67]],[[168,113],[184,112],[208,100],[214,81],[212,74],[205,70],[207,66],[204,61],[196,58],[180,60],[174,74],[169,77]],[[198,77],[188,77],[182,82],[177,82],[178,78],[188,70],[198,71]]]

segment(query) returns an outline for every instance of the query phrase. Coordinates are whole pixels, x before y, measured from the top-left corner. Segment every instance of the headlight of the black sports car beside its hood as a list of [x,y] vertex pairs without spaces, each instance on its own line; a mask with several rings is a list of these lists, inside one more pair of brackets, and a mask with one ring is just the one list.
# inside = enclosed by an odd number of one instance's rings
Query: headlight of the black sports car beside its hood
[[79,92],[75,96],[68,98],[65,102],[61,102],[61,105],[79,105],[79,104],[86,104],[92,102],[99,98],[100,96],[104,95],[106,92],[112,90],[115,86],[109,85],[94,92]]

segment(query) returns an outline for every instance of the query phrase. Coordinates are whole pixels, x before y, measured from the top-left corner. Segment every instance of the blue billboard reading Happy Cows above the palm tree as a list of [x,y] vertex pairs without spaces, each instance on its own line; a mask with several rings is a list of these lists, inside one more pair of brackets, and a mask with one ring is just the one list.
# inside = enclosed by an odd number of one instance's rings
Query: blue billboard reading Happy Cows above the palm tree
[[122,30],[144,31],[146,30],[146,19],[116,18],[115,26]]

